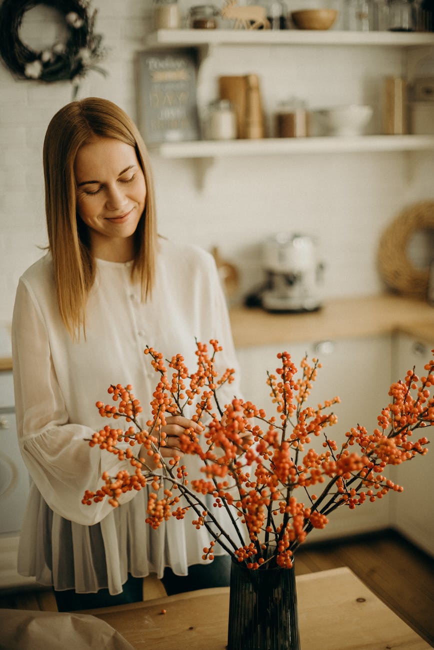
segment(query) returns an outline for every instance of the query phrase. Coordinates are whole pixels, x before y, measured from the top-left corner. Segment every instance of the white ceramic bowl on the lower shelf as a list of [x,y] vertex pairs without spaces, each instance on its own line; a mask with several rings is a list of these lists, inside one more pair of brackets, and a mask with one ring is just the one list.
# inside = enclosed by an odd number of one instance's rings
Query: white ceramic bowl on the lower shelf
[[372,117],[372,106],[349,104],[315,111],[324,135],[362,135]]

